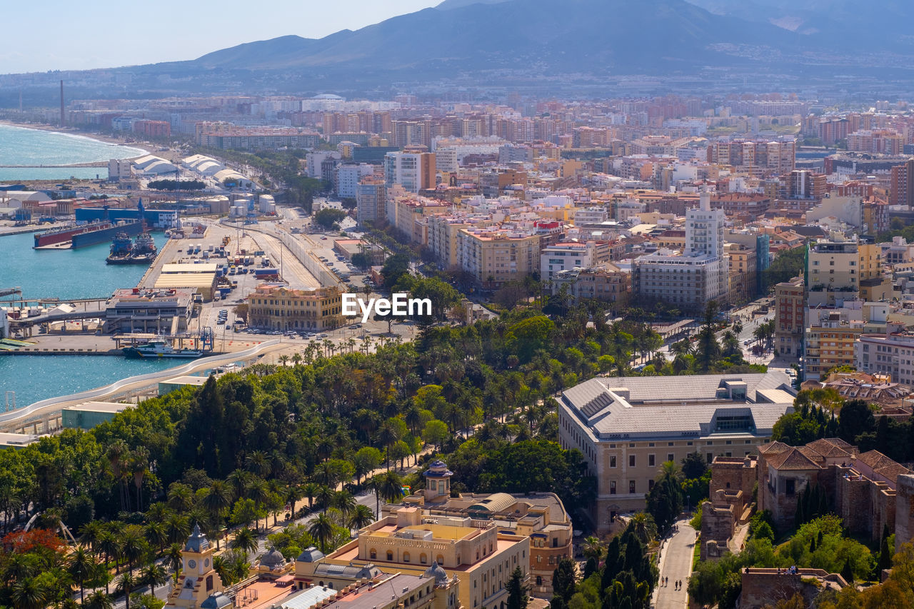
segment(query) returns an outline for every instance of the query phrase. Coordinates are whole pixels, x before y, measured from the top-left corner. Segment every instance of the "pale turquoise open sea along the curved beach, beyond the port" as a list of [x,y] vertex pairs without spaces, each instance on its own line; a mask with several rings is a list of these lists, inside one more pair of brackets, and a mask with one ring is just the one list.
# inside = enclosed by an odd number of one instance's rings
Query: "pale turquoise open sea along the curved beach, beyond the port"
[[0,181],[108,177],[107,167],[4,167],[94,163],[145,155],[141,148],[108,144],[75,134],[0,124]]

